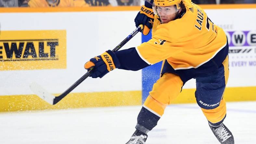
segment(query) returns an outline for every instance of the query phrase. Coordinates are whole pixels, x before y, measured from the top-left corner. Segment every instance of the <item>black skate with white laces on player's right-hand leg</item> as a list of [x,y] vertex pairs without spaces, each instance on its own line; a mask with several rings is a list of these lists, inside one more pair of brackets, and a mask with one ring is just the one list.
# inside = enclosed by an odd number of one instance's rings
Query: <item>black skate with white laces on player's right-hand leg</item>
[[234,137],[229,129],[221,123],[219,127],[214,127],[209,124],[211,131],[221,144],[234,144]]

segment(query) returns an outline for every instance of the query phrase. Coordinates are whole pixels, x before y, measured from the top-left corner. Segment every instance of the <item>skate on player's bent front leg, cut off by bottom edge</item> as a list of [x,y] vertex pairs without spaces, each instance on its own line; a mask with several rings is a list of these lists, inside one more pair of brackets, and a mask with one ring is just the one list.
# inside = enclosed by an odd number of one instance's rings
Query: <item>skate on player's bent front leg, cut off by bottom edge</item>
[[145,144],[147,140],[147,134],[136,130],[132,135],[131,139],[125,144]]

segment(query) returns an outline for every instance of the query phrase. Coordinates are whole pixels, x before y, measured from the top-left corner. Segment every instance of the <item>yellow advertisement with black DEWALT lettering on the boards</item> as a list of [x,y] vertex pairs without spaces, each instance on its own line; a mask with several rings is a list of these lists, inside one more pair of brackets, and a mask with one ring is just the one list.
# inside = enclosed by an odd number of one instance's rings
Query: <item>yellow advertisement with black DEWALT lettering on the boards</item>
[[0,70],[64,69],[66,30],[0,31]]

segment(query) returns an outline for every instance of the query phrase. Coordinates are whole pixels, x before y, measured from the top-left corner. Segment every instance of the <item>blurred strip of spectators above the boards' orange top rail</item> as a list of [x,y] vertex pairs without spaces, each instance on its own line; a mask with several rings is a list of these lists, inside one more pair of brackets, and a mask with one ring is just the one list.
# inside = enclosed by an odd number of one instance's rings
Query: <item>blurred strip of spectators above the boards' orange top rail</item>
[[[195,4],[253,4],[256,0],[192,0]],[[144,0],[0,0],[0,7],[141,6]]]

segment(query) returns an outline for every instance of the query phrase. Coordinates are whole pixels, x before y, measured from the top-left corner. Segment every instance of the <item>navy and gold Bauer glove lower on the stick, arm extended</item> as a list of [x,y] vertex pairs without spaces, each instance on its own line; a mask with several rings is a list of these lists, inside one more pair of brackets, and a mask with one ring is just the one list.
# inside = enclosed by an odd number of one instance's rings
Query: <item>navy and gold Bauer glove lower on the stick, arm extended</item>
[[111,50],[106,51],[105,53],[91,58],[90,61],[84,64],[84,68],[89,70],[92,67],[92,73],[90,77],[92,78],[102,78],[111,70],[120,67],[119,60],[114,52]]

